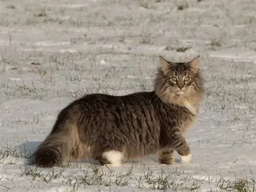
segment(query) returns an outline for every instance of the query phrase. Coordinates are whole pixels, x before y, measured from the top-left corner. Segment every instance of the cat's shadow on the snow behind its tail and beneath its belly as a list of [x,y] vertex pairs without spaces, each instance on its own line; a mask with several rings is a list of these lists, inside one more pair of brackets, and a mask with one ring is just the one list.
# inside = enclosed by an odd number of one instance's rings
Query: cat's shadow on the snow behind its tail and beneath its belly
[[[17,149],[20,153],[24,154],[23,156],[26,157],[26,164],[29,165],[33,165],[34,164],[34,159],[32,157],[33,153],[35,152],[37,146],[40,144],[41,142],[39,141],[27,141],[23,144],[20,144],[17,146]],[[149,162],[148,162],[149,160]],[[158,157],[156,155],[147,155],[145,157],[139,158],[139,159],[135,159],[135,160],[131,160],[131,161],[127,161],[125,162],[130,164],[130,163],[139,163],[139,162],[156,162],[159,163],[158,161]],[[175,158],[175,163],[180,163],[181,160],[179,158]],[[93,165],[100,165],[100,163],[97,160],[94,159],[78,159],[78,160],[71,160],[71,163],[90,163]]]

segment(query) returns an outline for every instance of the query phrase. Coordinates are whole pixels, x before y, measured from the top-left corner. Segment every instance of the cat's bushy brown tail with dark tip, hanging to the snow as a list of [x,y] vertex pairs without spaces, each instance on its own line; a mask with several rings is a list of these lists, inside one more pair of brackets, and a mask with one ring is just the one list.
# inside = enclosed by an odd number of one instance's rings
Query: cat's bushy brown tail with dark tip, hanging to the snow
[[71,122],[61,124],[56,122],[50,135],[37,147],[32,155],[34,164],[41,167],[60,166],[72,158],[79,138],[78,129]]

